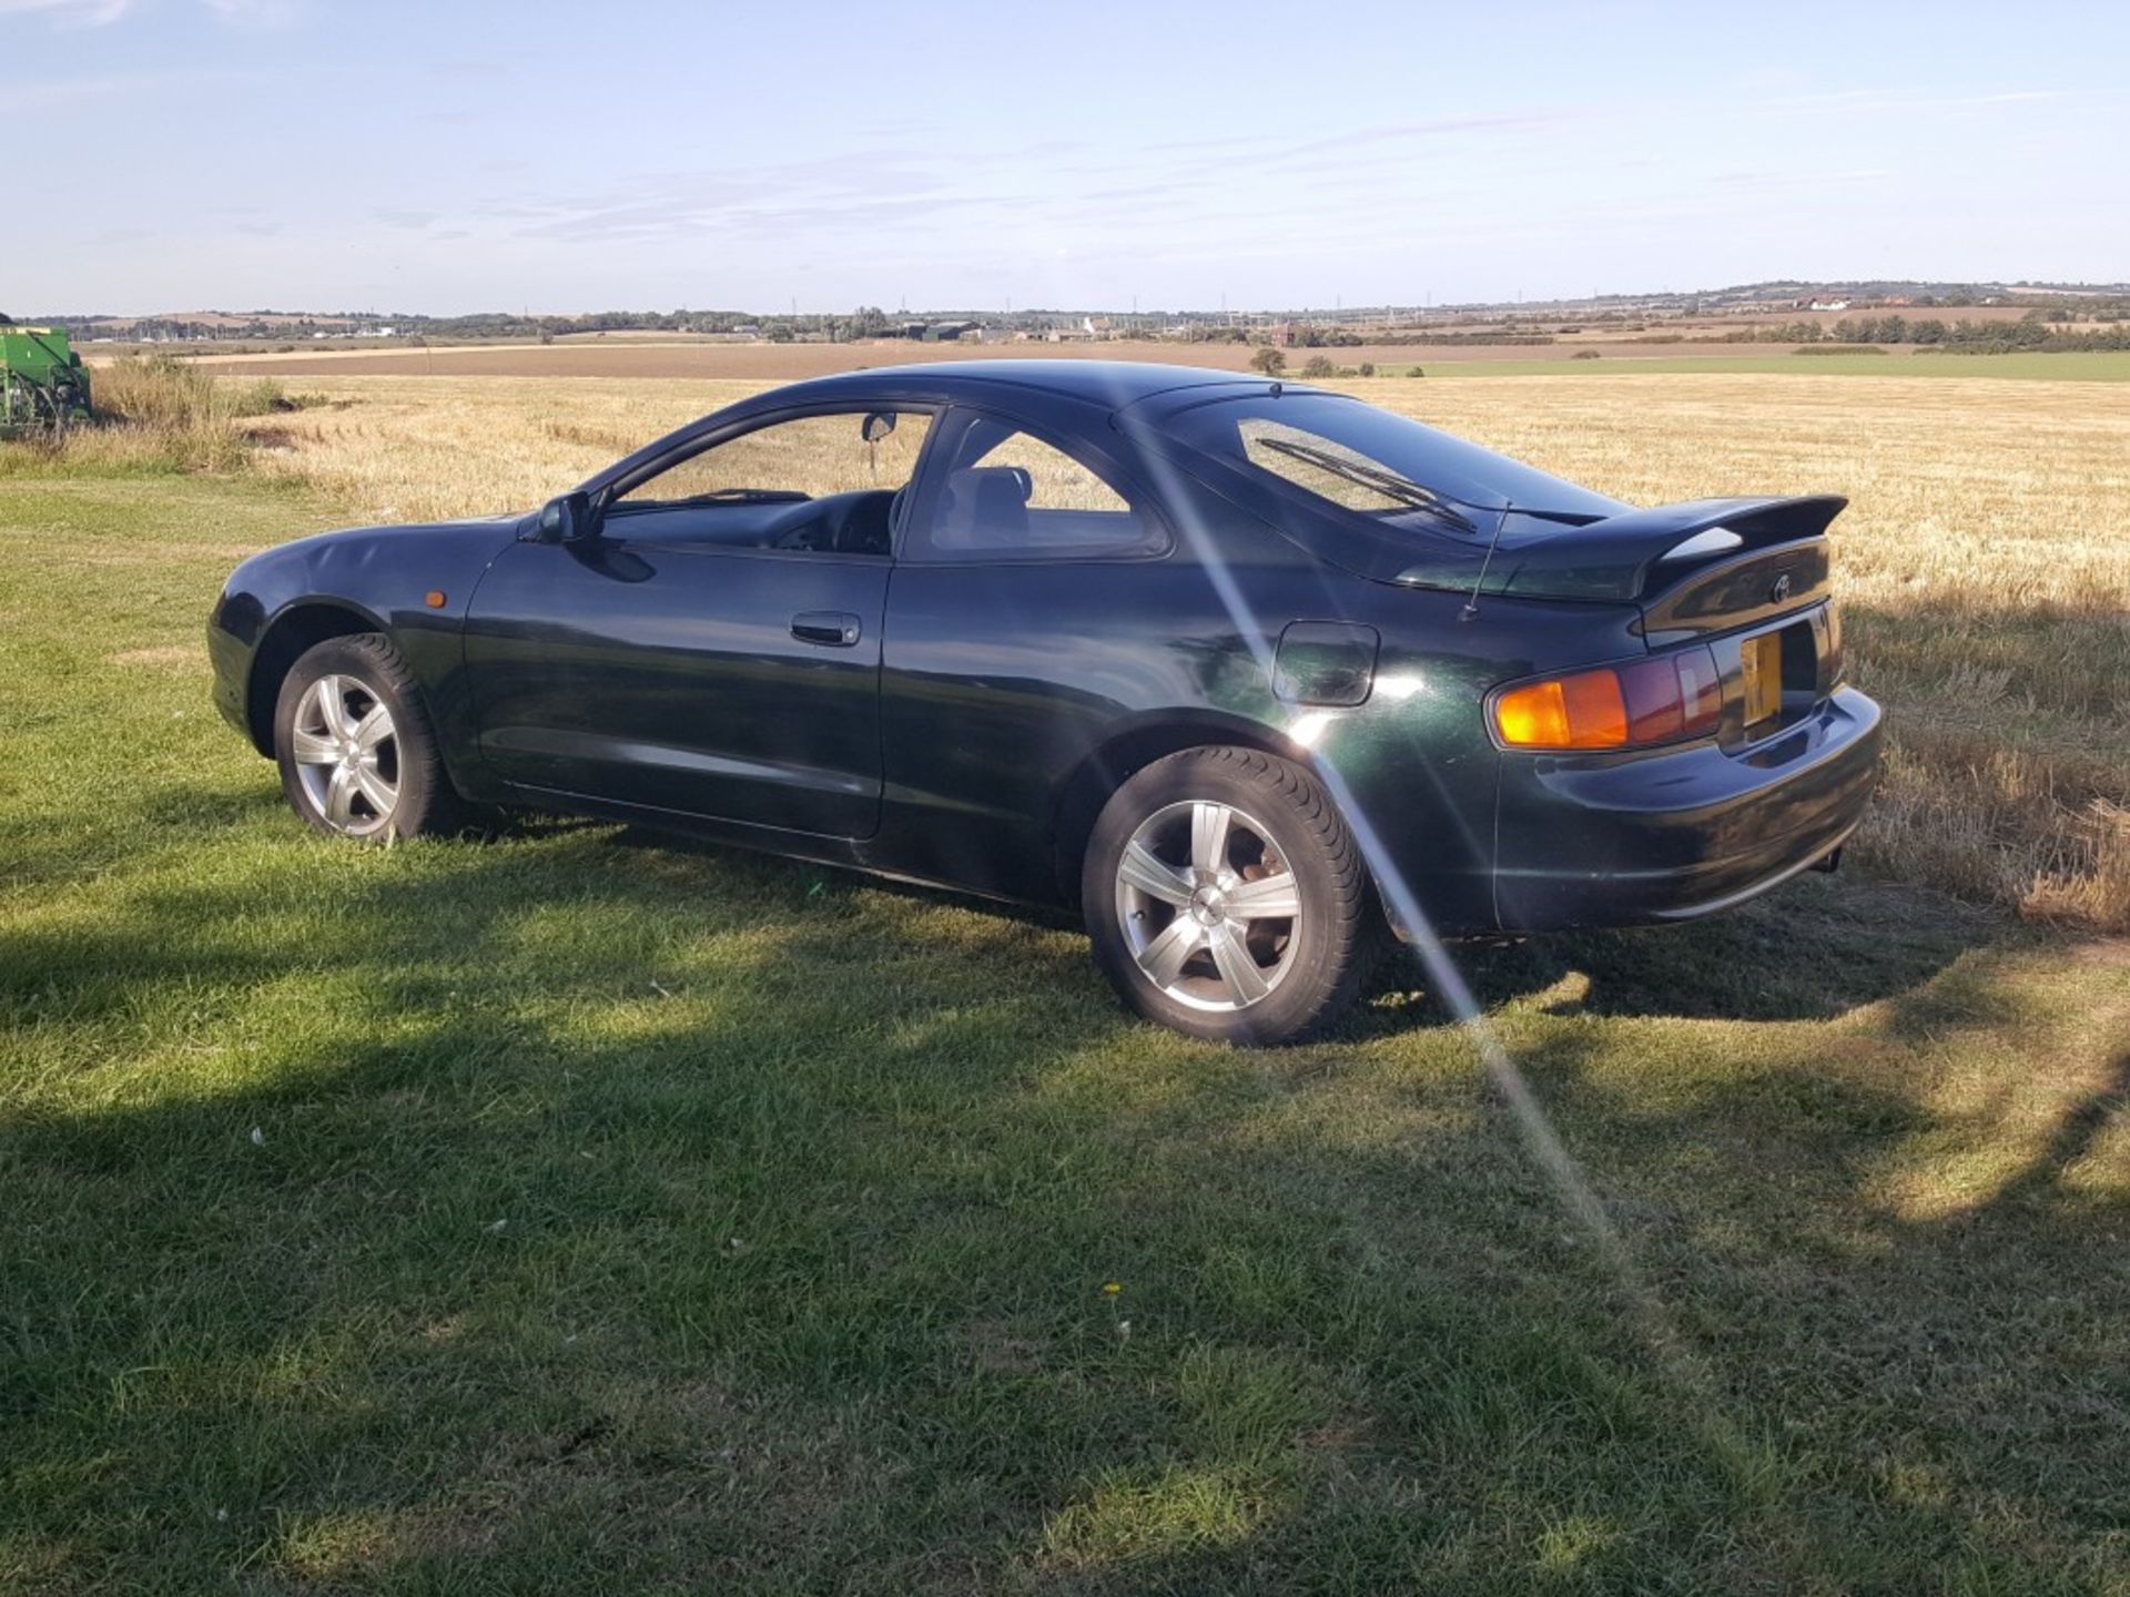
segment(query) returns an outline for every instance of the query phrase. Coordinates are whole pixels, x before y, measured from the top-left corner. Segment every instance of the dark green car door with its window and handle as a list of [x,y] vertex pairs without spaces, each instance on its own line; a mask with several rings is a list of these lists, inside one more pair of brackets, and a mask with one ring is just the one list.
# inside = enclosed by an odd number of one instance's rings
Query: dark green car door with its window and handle
[[532,792],[869,837],[890,526],[927,426],[775,415],[603,492],[594,537],[511,545],[466,618],[484,762]]

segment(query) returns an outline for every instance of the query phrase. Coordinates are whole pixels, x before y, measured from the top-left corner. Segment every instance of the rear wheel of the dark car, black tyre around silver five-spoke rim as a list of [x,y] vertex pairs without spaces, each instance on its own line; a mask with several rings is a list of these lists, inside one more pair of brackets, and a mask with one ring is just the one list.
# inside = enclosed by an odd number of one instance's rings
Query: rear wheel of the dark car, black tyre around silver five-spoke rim
[[[1231,892],[1240,899],[1259,884],[1272,888],[1274,877],[1291,877],[1278,892],[1295,905],[1293,918],[1272,920],[1269,926],[1227,920],[1218,888],[1203,879],[1195,835],[1201,805],[1231,811],[1216,845],[1223,862],[1242,873]],[[1163,828],[1176,824],[1193,828],[1191,841],[1184,850],[1163,850]],[[1235,824],[1240,835],[1231,837]],[[1180,877],[1197,879],[1199,896],[1186,907],[1172,907],[1165,896],[1120,884],[1118,869],[1133,839]],[[1238,865],[1252,847],[1259,862]],[[1174,862],[1178,852],[1189,856],[1186,862]],[[1246,1046],[1299,1041],[1333,1022],[1361,990],[1382,945],[1367,867],[1338,807],[1304,769],[1244,747],[1184,750],[1118,788],[1088,839],[1080,903],[1095,965],[1127,1005],[1193,1037]],[[1157,918],[1159,931],[1148,931],[1148,916]],[[1206,918],[1201,931],[1180,928],[1186,941],[1212,939],[1223,926],[1238,939],[1255,939],[1250,958],[1259,979],[1269,975],[1269,990],[1238,1001],[1242,984],[1229,977],[1229,967],[1210,948],[1193,952],[1169,986],[1157,982],[1142,956],[1161,965],[1152,943],[1184,916]],[[1233,948],[1229,943],[1223,954],[1233,958]]]

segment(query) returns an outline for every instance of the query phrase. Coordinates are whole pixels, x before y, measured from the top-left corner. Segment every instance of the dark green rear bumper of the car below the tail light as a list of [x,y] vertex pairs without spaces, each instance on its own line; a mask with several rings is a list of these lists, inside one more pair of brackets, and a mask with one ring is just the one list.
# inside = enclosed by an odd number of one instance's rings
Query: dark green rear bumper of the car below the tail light
[[1879,781],[1879,705],[1836,690],[1744,750],[1504,758],[1504,931],[1634,926],[1730,909],[1819,862]]

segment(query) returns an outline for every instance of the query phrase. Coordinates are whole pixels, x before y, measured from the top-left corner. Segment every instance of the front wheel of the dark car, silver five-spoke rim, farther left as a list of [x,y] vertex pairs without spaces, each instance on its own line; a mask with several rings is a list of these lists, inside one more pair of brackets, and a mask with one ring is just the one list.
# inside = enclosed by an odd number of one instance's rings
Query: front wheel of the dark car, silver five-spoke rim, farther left
[[413,671],[383,635],[307,649],[273,724],[281,792],[317,830],[386,843],[464,824]]

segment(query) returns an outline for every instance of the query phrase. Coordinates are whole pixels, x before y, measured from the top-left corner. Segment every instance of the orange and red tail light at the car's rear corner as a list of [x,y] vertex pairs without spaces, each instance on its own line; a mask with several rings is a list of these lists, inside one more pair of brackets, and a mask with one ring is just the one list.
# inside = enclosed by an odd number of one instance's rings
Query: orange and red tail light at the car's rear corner
[[1512,750],[1636,750],[1706,737],[1721,707],[1717,658],[1695,645],[1508,688],[1493,730]]

